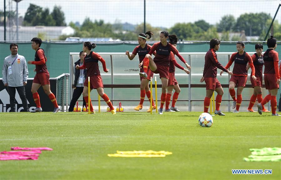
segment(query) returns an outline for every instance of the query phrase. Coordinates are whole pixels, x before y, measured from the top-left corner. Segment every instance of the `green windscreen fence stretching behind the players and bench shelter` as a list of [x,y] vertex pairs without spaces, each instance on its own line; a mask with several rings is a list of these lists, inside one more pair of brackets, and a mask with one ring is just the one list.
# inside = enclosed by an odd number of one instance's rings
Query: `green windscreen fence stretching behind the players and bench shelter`
[[[148,42],[149,43],[149,42]],[[26,58],[26,61],[34,61],[35,51],[31,48],[31,43],[17,43],[18,53]],[[131,43],[114,43],[114,44],[96,44],[94,49],[97,53],[124,53],[126,51],[132,52],[138,45]],[[151,44],[152,45],[152,44]],[[69,53],[75,53],[82,51],[82,43],[52,43],[43,42],[41,48],[45,50],[47,57],[47,68],[50,73],[50,78],[55,78],[63,73],[69,73]],[[255,43],[246,42],[245,51],[254,52]],[[190,44],[178,44],[177,49],[180,52],[207,52],[209,50],[209,43],[190,43]],[[267,45],[264,43],[264,51],[267,49]],[[281,42],[278,42],[276,51],[281,57]],[[236,43],[221,43],[219,52],[236,52]],[[0,67],[2,77],[2,67],[4,58],[9,56],[10,42],[0,42]],[[124,57],[126,60],[127,57]],[[109,65],[107,65],[109,66]],[[33,69],[35,65],[28,64],[29,78],[35,76]]]

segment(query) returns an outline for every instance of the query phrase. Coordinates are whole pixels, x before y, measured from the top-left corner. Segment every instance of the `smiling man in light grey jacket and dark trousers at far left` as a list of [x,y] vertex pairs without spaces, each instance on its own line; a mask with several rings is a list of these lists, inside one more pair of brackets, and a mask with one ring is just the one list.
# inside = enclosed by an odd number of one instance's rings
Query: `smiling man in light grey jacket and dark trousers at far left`
[[17,50],[18,46],[16,43],[10,44],[11,55],[5,58],[3,64],[3,84],[8,87],[11,106],[10,112],[15,112],[16,110],[16,89],[22,100],[23,111],[28,112],[24,88],[28,78],[27,63],[23,56],[18,55]]

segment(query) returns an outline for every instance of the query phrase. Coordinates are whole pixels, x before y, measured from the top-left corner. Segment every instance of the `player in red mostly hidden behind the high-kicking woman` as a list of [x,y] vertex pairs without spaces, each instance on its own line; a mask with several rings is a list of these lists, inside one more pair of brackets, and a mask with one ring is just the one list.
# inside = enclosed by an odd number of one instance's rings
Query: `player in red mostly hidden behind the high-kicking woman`
[[[171,42],[170,42],[171,43]],[[177,47],[177,42],[173,44],[173,46]],[[190,69],[190,65],[188,63],[184,62],[186,65],[186,68]],[[170,67],[169,67],[169,81],[168,81],[168,87],[167,87],[167,96],[166,96],[166,104],[165,104],[165,112],[179,112],[175,107],[175,103],[179,97],[180,94],[180,86],[175,79],[175,66],[181,70],[184,70],[187,74],[189,74],[189,70],[181,67],[176,59],[175,59],[175,54],[173,52],[170,53]],[[173,95],[173,100],[172,100],[172,106],[169,108],[170,101],[171,101],[171,96],[172,96],[172,91],[175,89],[175,93]]]

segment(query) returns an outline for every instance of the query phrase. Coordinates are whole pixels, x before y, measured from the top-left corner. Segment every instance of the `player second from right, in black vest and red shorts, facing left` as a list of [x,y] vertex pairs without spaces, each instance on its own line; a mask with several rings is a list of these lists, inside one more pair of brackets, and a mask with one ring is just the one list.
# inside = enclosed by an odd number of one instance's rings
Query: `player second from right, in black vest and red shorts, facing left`
[[[252,108],[256,102],[256,98],[258,98],[258,102],[262,102],[262,84],[263,84],[263,66],[264,66],[264,58],[262,55],[264,46],[260,43],[255,45],[256,53],[252,56],[253,64],[255,67],[255,77],[257,78],[256,81],[251,77],[252,88],[254,88],[254,93],[250,98],[250,103],[247,109],[247,112],[256,112]],[[247,64],[247,71],[250,68],[250,65]],[[263,112],[270,112],[262,106]]]

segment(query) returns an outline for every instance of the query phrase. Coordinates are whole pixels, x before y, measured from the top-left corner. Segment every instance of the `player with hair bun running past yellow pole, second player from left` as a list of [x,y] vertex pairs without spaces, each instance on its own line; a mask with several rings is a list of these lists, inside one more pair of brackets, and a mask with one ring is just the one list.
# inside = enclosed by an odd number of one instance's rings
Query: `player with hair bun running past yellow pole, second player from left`
[[[110,99],[103,91],[103,83],[102,83],[98,62],[99,61],[101,62],[104,72],[107,73],[109,69],[106,69],[105,60],[101,57],[101,55],[91,51],[91,49],[95,47],[96,47],[95,43],[91,44],[91,42],[84,42],[83,51],[86,53],[86,56],[84,58],[83,65],[79,66],[77,64],[76,69],[85,69],[85,68],[87,69],[87,77],[90,77],[90,91],[92,89],[96,89],[96,91],[101,96],[101,98],[103,98],[106,104],[110,107],[111,113],[116,114],[116,109],[114,109],[112,103],[110,102]],[[88,78],[86,78],[85,80],[82,94],[83,94],[83,98],[86,101],[86,104],[88,105],[88,107],[90,107],[91,114],[95,114],[91,100],[90,102],[88,102],[88,96],[90,96],[90,94],[88,94]]]

